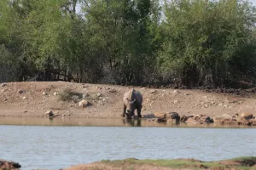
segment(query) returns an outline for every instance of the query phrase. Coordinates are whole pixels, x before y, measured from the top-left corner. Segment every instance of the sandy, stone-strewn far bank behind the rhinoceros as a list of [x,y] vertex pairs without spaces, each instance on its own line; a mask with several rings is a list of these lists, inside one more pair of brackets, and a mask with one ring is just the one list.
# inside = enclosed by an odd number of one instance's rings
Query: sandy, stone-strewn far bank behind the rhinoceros
[[[256,120],[253,89],[160,89],[74,82],[2,83],[0,116],[47,117],[49,115],[45,112],[52,111],[56,119],[120,119],[123,95],[129,88],[135,88],[143,94],[144,117],[153,113],[177,112],[180,117],[194,116],[194,120],[197,120],[195,117],[198,116],[210,116],[213,119],[225,114],[234,118],[246,113],[253,114],[253,122]],[[81,100],[86,105],[79,105]]]

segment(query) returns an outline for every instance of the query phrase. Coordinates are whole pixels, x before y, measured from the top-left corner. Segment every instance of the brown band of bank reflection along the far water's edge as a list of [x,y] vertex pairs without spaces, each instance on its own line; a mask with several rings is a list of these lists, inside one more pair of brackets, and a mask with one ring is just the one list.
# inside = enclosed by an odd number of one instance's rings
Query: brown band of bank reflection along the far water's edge
[[[98,118],[75,118],[57,117],[1,117],[0,125],[26,125],[26,126],[90,126],[90,127],[230,127],[211,124],[186,124],[174,122],[154,122],[145,119],[98,119]],[[238,126],[242,127],[242,126]],[[247,126],[244,126],[247,127]],[[253,127],[252,127],[253,128]]]

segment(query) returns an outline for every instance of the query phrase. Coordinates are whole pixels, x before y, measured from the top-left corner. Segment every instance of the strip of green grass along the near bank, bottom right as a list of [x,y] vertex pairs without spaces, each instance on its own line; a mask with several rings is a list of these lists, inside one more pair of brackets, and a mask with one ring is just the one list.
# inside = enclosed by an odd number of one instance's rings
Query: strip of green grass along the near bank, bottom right
[[235,167],[236,169],[246,170],[251,169],[251,166],[255,165],[256,157],[249,156],[249,157],[238,157],[231,160],[224,160],[224,161],[234,161],[239,162],[238,166],[234,165],[224,165],[221,164],[220,161],[196,161],[196,160],[186,160],[186,159],[177,159],[177,160],[137,160],[134,158],[129,158],[125,160],[103,160],[102,163],[110,164],[114,167],[127,167],[127,166],[135,166],[135,165],[152,165],[154,167],[172,167],[172,168],[183,168],[189,167],[189,169],[201,169],[201,168],[210,168],[210,167],[218,167],[224,169],[224,167]]

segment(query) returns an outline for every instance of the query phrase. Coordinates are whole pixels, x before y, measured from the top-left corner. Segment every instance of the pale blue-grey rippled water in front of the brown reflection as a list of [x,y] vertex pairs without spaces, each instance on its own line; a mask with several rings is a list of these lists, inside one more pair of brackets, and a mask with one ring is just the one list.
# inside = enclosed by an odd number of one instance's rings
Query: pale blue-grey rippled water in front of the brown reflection
[[2,125],[0,150],[0,158],[19,162],[21,169],[129,157],[218,161],[256,156],[256,129]]

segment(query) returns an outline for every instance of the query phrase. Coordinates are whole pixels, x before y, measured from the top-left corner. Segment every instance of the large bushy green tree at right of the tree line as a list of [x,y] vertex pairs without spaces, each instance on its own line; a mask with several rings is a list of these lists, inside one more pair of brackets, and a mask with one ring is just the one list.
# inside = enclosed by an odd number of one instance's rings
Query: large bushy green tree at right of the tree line
[[[158,63],[185,85],[223,85],[255,75],[255,8],[246,1],[165,3]],[[250,74],[246,74],[251,71]]]

